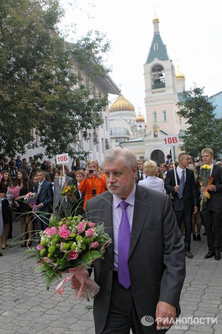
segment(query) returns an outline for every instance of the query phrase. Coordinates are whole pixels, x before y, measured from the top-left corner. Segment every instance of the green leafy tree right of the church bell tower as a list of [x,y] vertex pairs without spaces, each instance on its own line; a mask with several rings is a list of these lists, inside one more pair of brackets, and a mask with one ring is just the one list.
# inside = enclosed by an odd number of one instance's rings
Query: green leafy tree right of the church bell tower
[[204,88],[195,86],[184,91],[183,101],[178,103],[178,115],[183,116],[188,124],[180,148],[193,157],[197,157],[205,147],[211,148],[215,156],[222,151],[222,120],[214,118],[215,106],[203,92]]

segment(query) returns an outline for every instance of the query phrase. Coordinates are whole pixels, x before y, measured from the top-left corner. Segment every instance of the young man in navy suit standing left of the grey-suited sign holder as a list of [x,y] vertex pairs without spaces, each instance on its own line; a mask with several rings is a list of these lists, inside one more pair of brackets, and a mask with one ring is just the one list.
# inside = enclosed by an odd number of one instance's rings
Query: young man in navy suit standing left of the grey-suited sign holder
[[[51,213],[51,204],[53,202],[53,191],[50,182],[47,182],[45,172],[42,169],[37,170],[38,181],[34,184],[34,191],[38,193],[36,206],[40,211],[39,217],[36,214],[36,221],[39,230],[44,230],[48,227],[49,213]],[[44,212],[44,213],[43,213]]]

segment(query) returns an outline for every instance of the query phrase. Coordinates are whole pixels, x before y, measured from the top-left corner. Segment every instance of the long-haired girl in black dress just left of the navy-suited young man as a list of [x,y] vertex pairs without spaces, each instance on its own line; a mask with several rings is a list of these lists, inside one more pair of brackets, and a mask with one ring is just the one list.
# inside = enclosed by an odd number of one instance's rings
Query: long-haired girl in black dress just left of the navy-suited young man
[[33,191],[33,186],[31,180],[29,180],[28,174],[25,169],[19,168],[17,173],[17,178],[18,178],[18,184],[20,186],[20,193],[18,197],[15,197],[15,200],[18,200],[20,205],[17,215],[19,217],[20,227],[21,227],[21,237],[22,237],[21,247],[27,247],[31,245],[31,241],[29,241],[28,244],[25,242],[26,225],[27,225],[29,240],[32,236],[33,228],[32,228],[31,216],[27,212],[31,211],[31,207],[24,202],[23,198],[28,192]]

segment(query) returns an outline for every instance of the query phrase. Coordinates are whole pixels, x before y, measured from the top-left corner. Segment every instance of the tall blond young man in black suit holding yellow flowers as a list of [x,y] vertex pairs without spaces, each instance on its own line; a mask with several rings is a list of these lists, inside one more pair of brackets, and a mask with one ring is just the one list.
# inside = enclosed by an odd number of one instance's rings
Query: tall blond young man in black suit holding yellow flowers
[[[205,259],[215,257],[220,260],[221,255],[221,208],[222,208],[222,167],[213,164],[214,152],[210,148],[205,148],[202,152],[204,165],[211,166],[210,176],[213,183],[207,186],[210,198],[203,203],[201,217],[204,222],[205,231],[207,233],[207,245],[209,252],[205,255]],[[201,193],[205,188],[201,187]],[[213,231],[214,227],[214,231]]]

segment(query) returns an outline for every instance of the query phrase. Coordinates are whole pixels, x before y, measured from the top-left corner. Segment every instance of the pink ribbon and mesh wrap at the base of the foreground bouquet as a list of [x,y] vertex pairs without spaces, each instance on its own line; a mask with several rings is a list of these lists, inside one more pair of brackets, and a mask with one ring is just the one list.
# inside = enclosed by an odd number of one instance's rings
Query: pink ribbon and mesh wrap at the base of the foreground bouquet
[[75,278],[77,281],[80,282],[81,286],[79,289],[76,289],[77,298],[93,298],[98,292],[100,287],[93,281],[90,277],[86,277],[84,273],[85,268],[70,268],[68,272],[71,273],[70,276],[65,277],[55,288],[55,292],[59,293],[60,295],[64,294],[64,289],[62,289],[62,284],[66,283],[67,281]]

